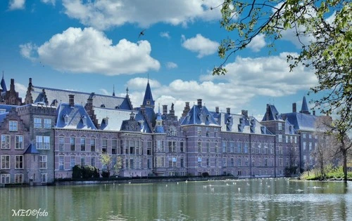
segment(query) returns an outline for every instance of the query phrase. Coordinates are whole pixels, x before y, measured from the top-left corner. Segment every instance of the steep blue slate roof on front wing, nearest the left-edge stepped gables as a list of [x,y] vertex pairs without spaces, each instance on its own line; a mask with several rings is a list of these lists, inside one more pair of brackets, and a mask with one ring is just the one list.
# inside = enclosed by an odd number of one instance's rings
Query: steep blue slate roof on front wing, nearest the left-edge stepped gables
[[70,107],[68,103],[61,103],[57,113],[56,128],[96,130],[92,119],[82,105]]

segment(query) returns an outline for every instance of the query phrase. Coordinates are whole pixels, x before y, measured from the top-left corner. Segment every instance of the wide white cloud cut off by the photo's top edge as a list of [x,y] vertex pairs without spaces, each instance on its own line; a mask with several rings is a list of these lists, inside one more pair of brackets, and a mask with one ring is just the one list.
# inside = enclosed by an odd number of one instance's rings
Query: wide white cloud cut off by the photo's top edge
[[158,22],[187,25],[194,20],[219,20],[221,8],[210,10],[210,7],[222,2],[223,0],[63,0],[63,6],[68,17],[80,20],[83,25],[108,29],[125,23],[149,27]]

